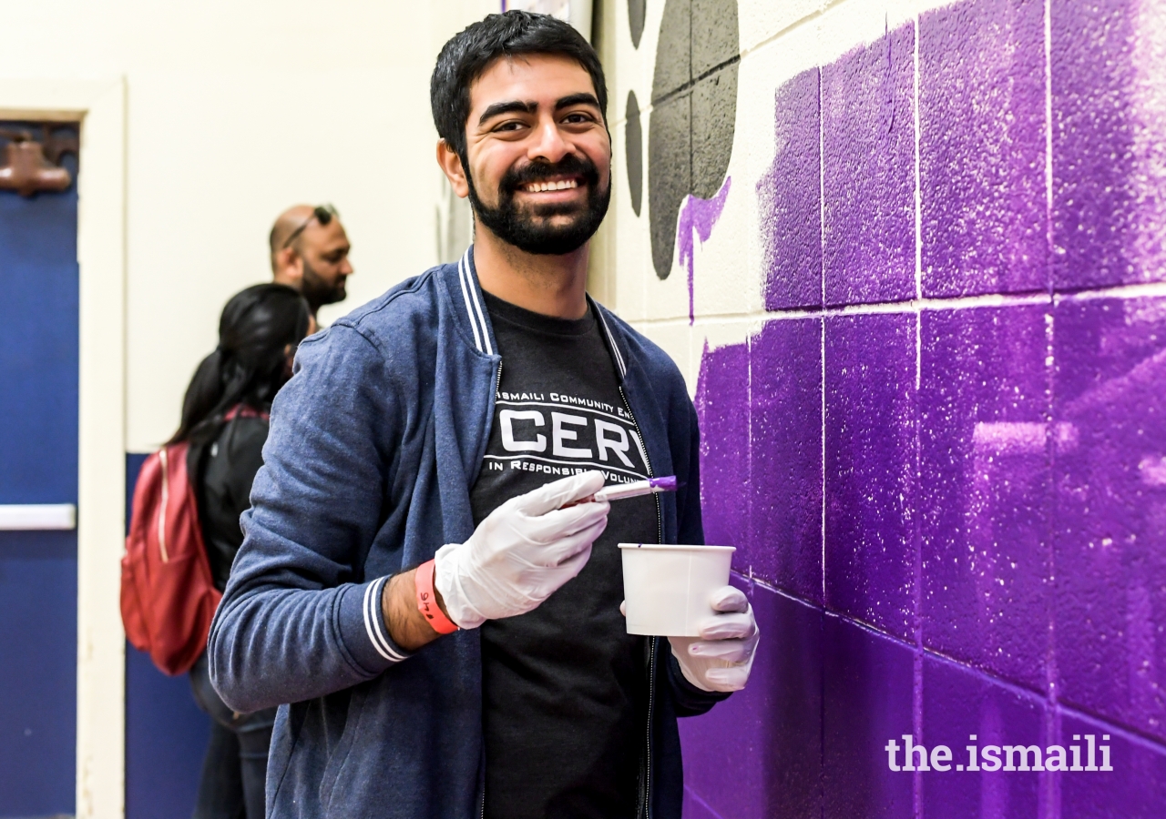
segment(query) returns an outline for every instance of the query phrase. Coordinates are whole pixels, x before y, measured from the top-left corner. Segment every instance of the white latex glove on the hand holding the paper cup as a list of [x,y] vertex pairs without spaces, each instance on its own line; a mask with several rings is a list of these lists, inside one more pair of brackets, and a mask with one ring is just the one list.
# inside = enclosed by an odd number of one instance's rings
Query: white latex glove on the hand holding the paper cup
[[703,691],[740,691],[749,682],[760,633],[753,607],[739,588],[722,586],[709,600],[714,610],[700,637],[668,637],[684,679]]

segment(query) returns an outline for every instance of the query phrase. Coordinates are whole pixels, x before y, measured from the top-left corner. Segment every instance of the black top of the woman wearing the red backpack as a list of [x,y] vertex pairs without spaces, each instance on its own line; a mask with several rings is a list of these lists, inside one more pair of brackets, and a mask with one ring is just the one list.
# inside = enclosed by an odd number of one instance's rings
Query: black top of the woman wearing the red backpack
[[206,559],[220,592],[226,588],[231,564],[243,545],[239,516],[251,508],[251,485],[264,465],[268,429],[265,417],[236,417],[213,440],[189,451],[187,474],[194,476]]

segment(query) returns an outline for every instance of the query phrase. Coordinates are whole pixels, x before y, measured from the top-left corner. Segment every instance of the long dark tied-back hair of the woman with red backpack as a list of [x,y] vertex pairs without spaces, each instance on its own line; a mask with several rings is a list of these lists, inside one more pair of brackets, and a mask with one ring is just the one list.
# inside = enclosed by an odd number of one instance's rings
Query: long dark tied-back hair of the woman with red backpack
[[266,410],[292,375],[289,355],[308,334],[308,303],[283,284],[236,294],[219,318],[219,343],[187,387],[182,424],[167,444],[205,443],[236,405]]

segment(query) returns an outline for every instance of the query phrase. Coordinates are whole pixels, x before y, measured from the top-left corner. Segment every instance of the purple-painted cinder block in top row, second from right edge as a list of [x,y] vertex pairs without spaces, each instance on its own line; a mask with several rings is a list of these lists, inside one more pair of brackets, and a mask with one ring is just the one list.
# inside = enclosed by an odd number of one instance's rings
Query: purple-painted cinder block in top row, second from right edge
[[925,296],[1044,290],[1045,8],[972,0],[919,19]]

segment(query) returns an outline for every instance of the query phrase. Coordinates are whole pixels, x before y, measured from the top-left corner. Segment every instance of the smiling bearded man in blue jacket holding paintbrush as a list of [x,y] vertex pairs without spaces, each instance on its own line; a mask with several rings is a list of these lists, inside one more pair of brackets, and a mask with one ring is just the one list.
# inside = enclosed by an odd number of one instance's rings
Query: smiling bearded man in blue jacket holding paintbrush
[[[268,814],[679,819],[676,718],[745,685],[744,594],[700,638],[628,635],[617,544],[702,543],[696,412],[590,299],[611,196],[603,70],[491,15],[430,86],[475,245],[305,341],[212,628],[240,711],[281,706]],[[605,483],[676,475],[612,504]]]

